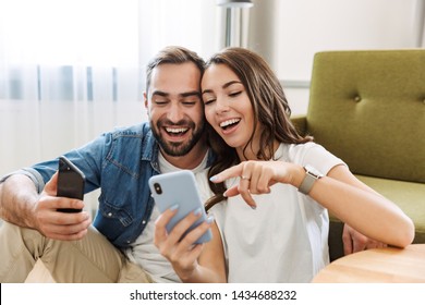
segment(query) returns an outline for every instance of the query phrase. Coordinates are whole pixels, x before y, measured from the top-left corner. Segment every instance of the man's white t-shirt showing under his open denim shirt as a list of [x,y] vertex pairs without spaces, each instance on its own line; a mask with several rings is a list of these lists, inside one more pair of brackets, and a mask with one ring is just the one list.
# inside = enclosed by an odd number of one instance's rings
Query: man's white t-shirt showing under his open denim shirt
[[[205,154],[204,160],[198,167],[192,171],[196,174],[202,172],[207,166],[208,152]],[[172,172],[180,170],[168,162],[162,154],[158,157],[159,169],[161,173]],[[146,224],[145,230],[137,237],[137,240],[126,249],[125,255],[130,261],[135,263],[151,277],[157,283],[175,283],[181,282],[178,274],[175,274],[170,261],[165,258],[154,244],[155,221],[159,217],[159,210],[154,206],[149,221]]]

